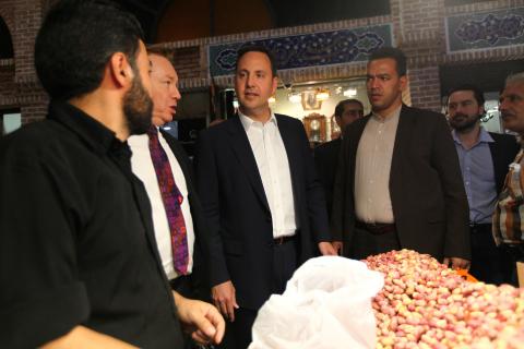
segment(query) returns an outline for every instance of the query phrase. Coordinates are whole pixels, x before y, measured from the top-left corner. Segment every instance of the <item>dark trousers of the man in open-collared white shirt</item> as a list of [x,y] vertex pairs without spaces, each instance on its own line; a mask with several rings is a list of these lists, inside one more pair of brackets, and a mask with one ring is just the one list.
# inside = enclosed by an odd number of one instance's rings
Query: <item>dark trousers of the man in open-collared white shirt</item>
[[[283,293],[287,281],[297,268],[298,238],[273,245],[272,292]],[[253,275],[253,277],[257,277]],[[257,318],[258,309],[240,308],[235,310],[235,321],[226,322],[226,338],[219,348],[246,349],[252,341],[251,329]]]

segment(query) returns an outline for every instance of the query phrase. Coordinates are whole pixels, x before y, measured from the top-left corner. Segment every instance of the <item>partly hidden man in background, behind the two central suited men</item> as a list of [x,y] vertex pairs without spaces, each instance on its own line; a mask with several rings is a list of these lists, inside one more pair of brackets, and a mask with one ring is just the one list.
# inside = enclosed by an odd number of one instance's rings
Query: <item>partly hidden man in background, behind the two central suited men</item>
[[[335,107],[335,121],[341,132],[353,121],[364,116],[362,103],[358,99],[341,100]],[[319,145],[314,148],[314,161],[320,181],[324,186],[325,201],[327,202],[327,216],[331,217],[333,205],[333,185],[335,183],[336,164],[342,145],[342,135],[336,140]]]

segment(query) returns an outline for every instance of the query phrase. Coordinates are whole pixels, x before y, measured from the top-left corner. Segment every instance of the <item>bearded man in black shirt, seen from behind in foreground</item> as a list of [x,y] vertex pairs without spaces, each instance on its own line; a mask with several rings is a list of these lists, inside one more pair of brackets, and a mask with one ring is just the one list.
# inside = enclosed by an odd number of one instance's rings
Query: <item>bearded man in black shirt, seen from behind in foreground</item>
[[171,292],[126,140],[151,125],[138,21],[103,0],[63,0],[35,45],[47,119],[0,144],[0,342],[5,348],[180,348],[224,321]]

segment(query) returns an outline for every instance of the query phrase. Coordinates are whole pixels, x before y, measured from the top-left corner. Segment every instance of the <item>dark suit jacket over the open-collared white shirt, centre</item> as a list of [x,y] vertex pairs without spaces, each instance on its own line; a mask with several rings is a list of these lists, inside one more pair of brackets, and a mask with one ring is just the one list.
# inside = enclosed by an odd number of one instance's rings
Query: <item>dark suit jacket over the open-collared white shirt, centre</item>
[[[302,123],[276,116],[291,174],[299,225],[299,263],[317,242],[331,241],[325,200]],[[237,302],[259,309],[272,288],[272,215],[248,136],[238,117],[202,132],[195,156],[202,205],[210,226],[203,238],[211,285],[231,280]]]

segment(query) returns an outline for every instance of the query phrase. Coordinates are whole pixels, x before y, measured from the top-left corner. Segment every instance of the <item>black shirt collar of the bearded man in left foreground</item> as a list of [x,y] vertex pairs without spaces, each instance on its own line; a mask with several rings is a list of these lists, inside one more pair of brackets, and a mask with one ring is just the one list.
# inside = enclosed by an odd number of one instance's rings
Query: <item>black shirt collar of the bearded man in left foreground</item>
[[47,118],[70,129],[99,154],[127,146],[127,142],[117,139],[115,132],[67,101],[51,100]]

